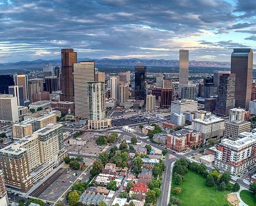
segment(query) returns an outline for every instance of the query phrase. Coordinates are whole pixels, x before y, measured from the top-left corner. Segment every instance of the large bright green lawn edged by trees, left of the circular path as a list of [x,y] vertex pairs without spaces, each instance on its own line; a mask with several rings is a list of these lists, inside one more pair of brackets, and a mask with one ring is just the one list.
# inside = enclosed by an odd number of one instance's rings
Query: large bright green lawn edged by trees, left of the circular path
[[213,187],[207,187],[205,178],[195,171],[188,170],[184,175],[185,182],[180,185],[171,183],[171,188],[181,187],[180,194],[173,194],[182,201],[182,206],[223,206],[226,201],[226,195],[229,191],[215,191]]

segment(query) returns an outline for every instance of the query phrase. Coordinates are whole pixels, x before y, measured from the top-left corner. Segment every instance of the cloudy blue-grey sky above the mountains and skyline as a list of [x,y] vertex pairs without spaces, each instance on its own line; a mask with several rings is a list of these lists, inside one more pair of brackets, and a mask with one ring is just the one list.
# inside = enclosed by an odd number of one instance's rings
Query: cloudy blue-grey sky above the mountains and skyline
[[[256,54],[256,0],[0,0],[0,62],[60,58],[230,61]],[[256,55],[254,55],[254,64]]]

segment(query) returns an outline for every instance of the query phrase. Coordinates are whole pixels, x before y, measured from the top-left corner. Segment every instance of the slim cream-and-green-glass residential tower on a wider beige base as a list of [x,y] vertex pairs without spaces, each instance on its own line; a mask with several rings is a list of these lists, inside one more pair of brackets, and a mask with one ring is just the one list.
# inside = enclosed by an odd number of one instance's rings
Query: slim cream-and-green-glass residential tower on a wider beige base
[[105,91],[102,82],[89,82],[88,129],[107,129],[111,119],[105,118]]

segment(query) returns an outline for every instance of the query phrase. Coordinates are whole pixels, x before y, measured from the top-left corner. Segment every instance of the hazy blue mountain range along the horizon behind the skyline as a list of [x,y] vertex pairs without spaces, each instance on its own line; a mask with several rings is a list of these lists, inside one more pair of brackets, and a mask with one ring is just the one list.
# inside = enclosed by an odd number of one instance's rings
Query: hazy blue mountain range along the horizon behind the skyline
[[[78,61],[89,61],[95,60],[95,64],[100,65],[115,65],[115,66],[133,66],[133,65],[146,65],[146,66],[167,66],[167,67],[178,67],[178,60],[164,60],[164,59],[89,59],[82,58]],[[18,61],[14,63],[2,63],[0,64],[0,69],[31,69],[31,68],[43,68],[44,64],[52,63],[55,65],[61,65],[60,59],[43,60],[37,59],[34,61]],[[218,67],[218,68],[230,68],[229,62],[219,62],[219,61],[190,61],[190,66],[192,67]]]

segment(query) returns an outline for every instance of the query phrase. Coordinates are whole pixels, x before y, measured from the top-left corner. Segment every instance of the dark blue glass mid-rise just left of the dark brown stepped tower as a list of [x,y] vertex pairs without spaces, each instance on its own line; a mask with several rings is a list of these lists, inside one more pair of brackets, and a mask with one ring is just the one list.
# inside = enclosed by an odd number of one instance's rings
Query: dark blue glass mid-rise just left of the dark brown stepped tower
[[203,79],[203,84],[199,84],[199,97],[210,98],[218,93],[218,86],[213,84],[213,77]]

